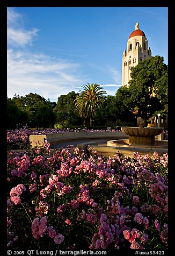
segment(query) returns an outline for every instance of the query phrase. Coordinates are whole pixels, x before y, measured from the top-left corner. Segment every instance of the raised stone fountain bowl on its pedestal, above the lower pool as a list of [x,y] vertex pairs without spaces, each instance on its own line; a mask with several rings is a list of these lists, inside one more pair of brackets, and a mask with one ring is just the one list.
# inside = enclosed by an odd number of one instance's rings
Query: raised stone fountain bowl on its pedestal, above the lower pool
[[121,131],[129,135],[128,145],[155,145],[155,136],[163,132],[163,127],[121,127]]

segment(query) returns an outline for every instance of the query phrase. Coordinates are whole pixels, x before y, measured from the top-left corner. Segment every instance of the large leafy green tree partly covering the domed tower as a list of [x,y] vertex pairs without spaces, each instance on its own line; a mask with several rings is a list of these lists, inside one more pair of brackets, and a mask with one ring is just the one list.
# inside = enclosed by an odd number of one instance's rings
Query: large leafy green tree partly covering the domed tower
[[141,117],[148,123],[156,111],[166,109],[164,103],[167,105],[167,65],[164,64],[163,57],[156,55],[138,62],[132,68],[130,76],[129,87],[120,88],[116,97],[118,101],[119,98],[122,101],[123,109],[128,108],[136,117]]

